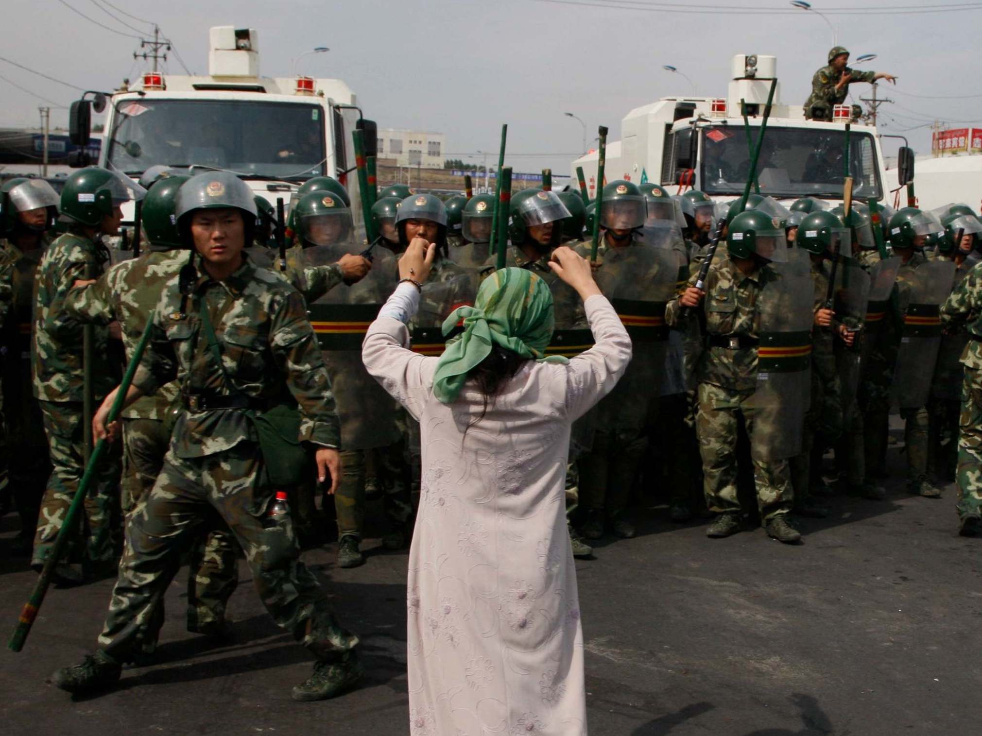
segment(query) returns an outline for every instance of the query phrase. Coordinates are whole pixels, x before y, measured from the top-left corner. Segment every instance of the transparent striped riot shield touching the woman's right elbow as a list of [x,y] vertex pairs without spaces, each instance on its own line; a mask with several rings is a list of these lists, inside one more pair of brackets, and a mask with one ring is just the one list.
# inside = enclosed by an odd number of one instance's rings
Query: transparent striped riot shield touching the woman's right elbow
[[608,248],[597,270],[597,285],[611,300],[633,345],[627,372],[598,405],[597,422],[605,429],[644,426],[648,404],[661,394],[669,329],[665,307],[675,298],[680,254],[633,243]]

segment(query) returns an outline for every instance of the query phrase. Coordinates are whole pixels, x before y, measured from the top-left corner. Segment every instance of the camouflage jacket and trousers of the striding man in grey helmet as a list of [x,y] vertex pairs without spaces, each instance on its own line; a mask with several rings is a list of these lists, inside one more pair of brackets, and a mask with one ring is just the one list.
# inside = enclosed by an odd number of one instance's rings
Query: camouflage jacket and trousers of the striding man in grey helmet
[[[201,308],[218,336],[222,366],[199,334]],[[200,276],[190,298],[172,281],[149,329],[134,386],[149,395],[177,379],[185,409],[153,489],[130,516],[101,648],[119,660],[132,656],[133,623],[146,621],[163,594],[175,545],[217,511],[246,551],[256,591],[276,623],[315,657],[343,657],[357,637],[338,624],[316,578],[300,562],[290,515],[266,516],[276,489],[260,481],[262,454],[246,414],[200,410],[243,394],[256,408],[292,396],[300,406],[300,441],[339,445],[334,397],[302,297],[246,259],[222,282]]]

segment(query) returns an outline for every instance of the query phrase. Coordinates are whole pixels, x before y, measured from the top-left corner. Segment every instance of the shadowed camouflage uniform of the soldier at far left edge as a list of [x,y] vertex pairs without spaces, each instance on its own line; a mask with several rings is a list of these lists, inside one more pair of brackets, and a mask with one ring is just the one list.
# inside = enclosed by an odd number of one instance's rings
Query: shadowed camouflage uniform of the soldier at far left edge
[[[37,513],[51,475],[48,443],[44,436],[41,409],[31,391],[30,336],[34,313],[34,272],[49,239],[39,247],[22,252],[0,240],[0,294],[10,294],[10,311],[2,320],[6,348],[3,358],[3,395],[6,396],[4,450],[8,454],[11,495],[17,503],[24,540],[33,541]],[[3,305],[8,302],[0,301]]]

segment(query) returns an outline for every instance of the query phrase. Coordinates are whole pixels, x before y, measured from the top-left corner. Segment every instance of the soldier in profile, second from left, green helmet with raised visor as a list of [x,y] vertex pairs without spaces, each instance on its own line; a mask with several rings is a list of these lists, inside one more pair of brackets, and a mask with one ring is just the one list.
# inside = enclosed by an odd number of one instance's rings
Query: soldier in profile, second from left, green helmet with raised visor
[[[31,565],[37,570],[61,529],[83,471],[83,330],[66,313],[65,297],[77,280],[102,274],[109,257],[100,238],[119,232],[123,220],[120,206],[141,198],[143,191],[128,178],[94,166],[73,174],[61,194],[62,217],[71,220],[69,232],[51,243],[37,267],[31,370],[53,466],[34,538]],[[92,391],[94,398],[100,399],[113,384],[107,359],[109,331],[96,327],[93,334]],[[111,521],[119,477],[117,460],[103,463],[84,503],[86,559],[93,563],[96,574],[114,566]],[[79,581],[70,566],[59,569],[59,577]]]

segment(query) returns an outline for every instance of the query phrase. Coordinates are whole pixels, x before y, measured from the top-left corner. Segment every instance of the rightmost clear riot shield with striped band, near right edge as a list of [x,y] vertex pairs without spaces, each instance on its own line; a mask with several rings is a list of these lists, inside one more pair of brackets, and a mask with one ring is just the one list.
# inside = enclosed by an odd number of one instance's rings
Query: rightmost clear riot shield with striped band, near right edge
[[901,409],[927,403],[941,345],[941,305],[954,281],[954,261],[928,261],[900,270],[903,330],[893,389]]

